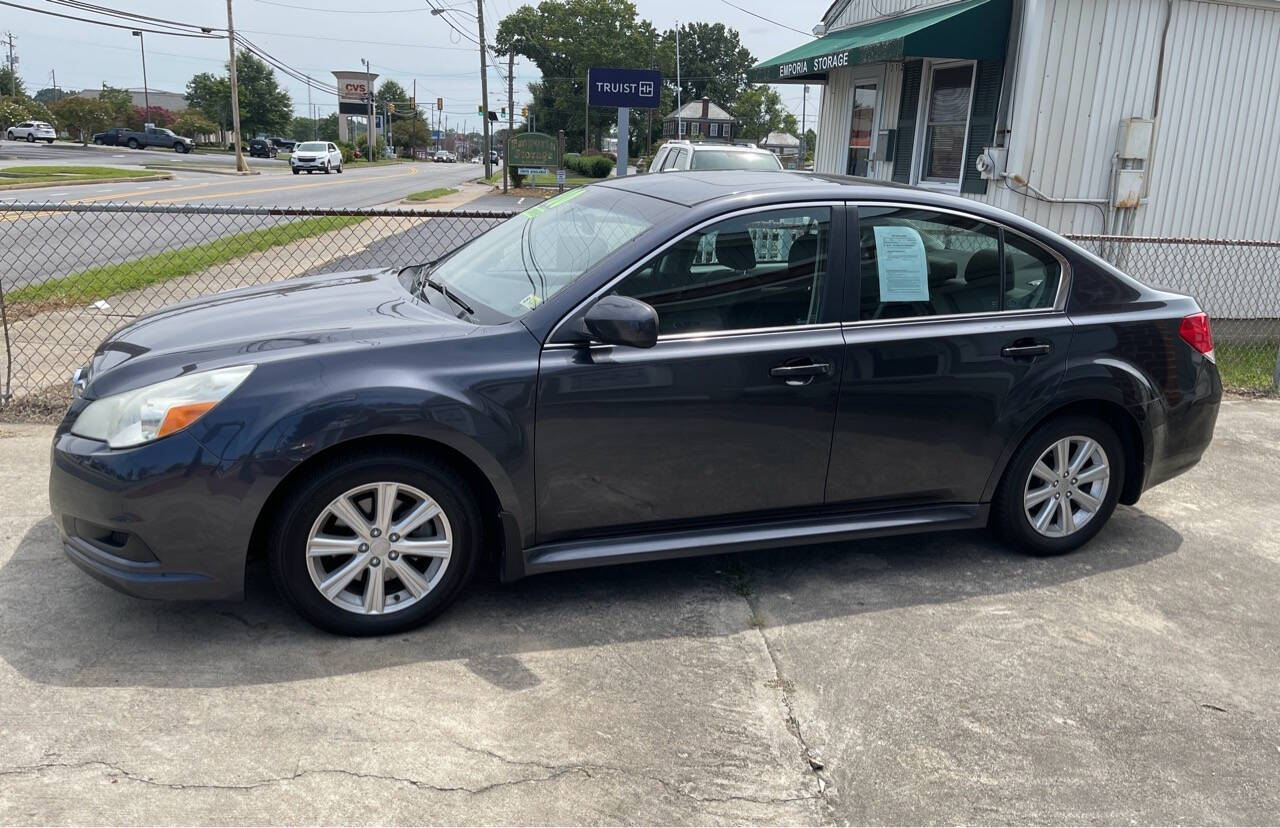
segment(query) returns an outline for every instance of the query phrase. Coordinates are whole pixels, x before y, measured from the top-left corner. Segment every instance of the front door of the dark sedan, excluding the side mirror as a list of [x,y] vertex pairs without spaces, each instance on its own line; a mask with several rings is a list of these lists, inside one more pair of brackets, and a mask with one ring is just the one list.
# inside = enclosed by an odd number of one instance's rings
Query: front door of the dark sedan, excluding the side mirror
[[844,354],[842,285],[829,276],[842,228],[831,203],[710,220],[595,297],[652,305],[653,348],[553,333],[538,389],[540,543],[822,504]]

